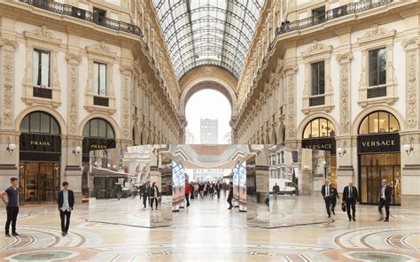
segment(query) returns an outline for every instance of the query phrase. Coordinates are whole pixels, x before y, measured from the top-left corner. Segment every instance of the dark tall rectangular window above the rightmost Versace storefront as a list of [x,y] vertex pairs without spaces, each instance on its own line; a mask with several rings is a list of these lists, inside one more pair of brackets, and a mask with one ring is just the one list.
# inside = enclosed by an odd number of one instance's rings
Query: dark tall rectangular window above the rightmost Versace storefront
[[369,50],[369,87],[386,84],[385,48]]

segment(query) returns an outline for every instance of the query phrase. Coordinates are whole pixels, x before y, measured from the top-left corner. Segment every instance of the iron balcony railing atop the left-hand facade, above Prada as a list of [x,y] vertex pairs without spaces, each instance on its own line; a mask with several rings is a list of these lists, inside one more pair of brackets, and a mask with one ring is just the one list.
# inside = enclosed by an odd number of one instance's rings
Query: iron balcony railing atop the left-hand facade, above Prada
[[94,15],[92,12],[86,11],[84,9],[72,5],[60,4],[51,0],[19,0],[19,2],[30,4],[32,6],[50,12],[68,15],[76,19],[86,20],[101,27],[107,27],[113,30],[126,32],[132,35],[138,35],[142,37],[142,39],[144,36],[140,27],[114,19],[98,19],[97,15]]

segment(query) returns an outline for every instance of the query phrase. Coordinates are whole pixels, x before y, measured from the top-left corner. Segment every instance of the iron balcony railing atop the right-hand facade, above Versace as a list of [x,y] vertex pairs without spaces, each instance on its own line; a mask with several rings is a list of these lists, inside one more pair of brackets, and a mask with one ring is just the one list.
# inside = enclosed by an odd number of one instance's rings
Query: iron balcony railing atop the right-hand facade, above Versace
[[292,22],[282,22],[280,27],[276,29],[276,35],[282,35],[292,31],[297,31],[307,27],[314,27],[323,24],[332,19],[338,19],[351,13],[363,12],[369,9],[377,8],[385,4],[392,3],[393,0],[362,0],[361,2],[346,4],[331,9],[318,16],[308,17],[306,19],[299,19]]

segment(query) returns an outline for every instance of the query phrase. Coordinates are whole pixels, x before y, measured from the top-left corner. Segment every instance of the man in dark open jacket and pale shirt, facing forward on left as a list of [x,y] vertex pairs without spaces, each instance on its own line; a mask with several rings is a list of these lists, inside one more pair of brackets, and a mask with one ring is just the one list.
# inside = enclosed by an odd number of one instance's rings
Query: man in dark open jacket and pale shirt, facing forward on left
[[61,219],[61,235],[65,236],[70,227],[70,214],[74,206],[74,193],[68,189],[68,182],[63,182],[63,190],[58,192],[58,210]]

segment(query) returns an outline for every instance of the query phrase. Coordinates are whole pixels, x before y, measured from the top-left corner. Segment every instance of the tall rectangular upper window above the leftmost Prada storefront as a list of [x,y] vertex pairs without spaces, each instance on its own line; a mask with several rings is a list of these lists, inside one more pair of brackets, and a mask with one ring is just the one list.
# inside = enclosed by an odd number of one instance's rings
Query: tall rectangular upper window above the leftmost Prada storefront
[[49,51],[34,50],[32,79],[35,86],[50,87],[50,55]]

